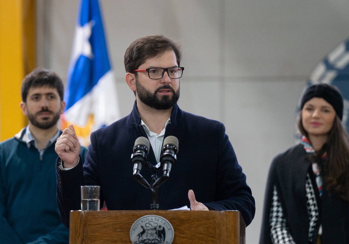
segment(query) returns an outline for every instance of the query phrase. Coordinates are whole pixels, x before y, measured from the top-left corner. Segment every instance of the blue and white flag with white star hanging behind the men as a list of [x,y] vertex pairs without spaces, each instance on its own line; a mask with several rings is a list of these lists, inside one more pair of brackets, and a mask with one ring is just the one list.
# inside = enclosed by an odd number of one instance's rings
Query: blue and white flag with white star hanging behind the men
[[91,132],[120,118],[98,0],[80,1],[64,101],[61,128],[73,124],[84,146]]

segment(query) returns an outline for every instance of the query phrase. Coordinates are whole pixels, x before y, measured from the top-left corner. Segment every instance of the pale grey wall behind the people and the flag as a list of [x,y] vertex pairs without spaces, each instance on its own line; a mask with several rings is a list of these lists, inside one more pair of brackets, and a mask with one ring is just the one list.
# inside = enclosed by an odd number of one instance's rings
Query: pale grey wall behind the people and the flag
[[[124,52],[136,38],[164,34],[182,44],[179,106],[222,121],[247,175],[258,242],[273,157],[294,144],[295,111],[307,76],[348,37],[349,1],[100,0],[121,115],[134,95]],[[78,0],[37,0],[38,66],[66,79]],[[200,200],[200,199],[199,199]]]

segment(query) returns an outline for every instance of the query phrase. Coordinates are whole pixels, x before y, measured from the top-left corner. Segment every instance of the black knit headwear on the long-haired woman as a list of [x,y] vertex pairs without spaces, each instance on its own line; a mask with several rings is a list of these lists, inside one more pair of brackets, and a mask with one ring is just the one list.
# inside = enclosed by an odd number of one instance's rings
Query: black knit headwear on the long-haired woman
[[310,99],[317,97],[325,99],[332,105],[338,117],[342,120],[343,117],[343,98],[342,95],[333,86],[326,83],[319,83],[309,86],[300,101],[300,109],[303,109],[304,104]]

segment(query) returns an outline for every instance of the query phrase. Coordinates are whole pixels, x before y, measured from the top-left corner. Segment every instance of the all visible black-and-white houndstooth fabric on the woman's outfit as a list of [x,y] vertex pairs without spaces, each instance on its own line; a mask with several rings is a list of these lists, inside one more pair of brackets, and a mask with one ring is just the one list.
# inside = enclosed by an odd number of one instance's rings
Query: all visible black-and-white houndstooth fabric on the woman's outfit
[[[313,241],[313,232],[316,222],[319,219],[319,209],[315,198],[315,192],[309,173],[307,173],[305,192],[307,198],[307,210],[309,215],[309,234],[308,241]],[[270,208],[270,237],[274,244],[295,244],[288,227],[286,226],[286,219],[283,215],[282,206],[277,196],[276,186],[273,189],[273,203]]]

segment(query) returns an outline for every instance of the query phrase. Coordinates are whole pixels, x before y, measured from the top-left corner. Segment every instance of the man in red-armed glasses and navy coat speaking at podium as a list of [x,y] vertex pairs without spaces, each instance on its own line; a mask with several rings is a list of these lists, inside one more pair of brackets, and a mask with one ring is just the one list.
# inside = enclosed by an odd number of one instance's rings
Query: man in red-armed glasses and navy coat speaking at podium
[[[238,210],[246,226],[251,223],[254,198],[224,125],[177,105],[184,72],[180,60],[180,48],[169,38],[133,41],[124,58],[125,80],[136,97],[131,114],[91,134],[85,162],[72,125],[57,139],[58,207],[66,226],[69,211],[80,209],[81,185],[100,185],[101,203],[109,210],[150,209],[151,191],[133,178],[130,156],[135,140],[146,137],[147,161],[156,165],[168,136],[178,138],[179,150],[170,177],[158,187],[159,209]],[[150,179],[154,169],[141,170]],[[162,168],[158,171],[161,175]]]

